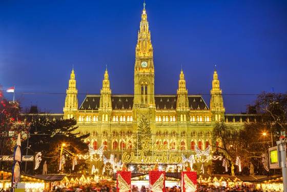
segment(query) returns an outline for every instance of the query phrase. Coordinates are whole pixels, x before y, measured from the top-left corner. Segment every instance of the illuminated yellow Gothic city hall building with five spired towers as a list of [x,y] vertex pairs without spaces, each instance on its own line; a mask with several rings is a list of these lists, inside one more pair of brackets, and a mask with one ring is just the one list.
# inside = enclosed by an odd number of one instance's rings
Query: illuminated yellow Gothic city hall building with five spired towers
[[134,94],[112,94],[106,69],[100,94],[87,94],[78,105],[75,72],[72,70],[64,118],[75,118],[78,131],[90,133],[87,142],[95,149],[103,145],[107,153],[113,153],[118,158],[124,151],[135,150],[135,145],[130,144],[127,138],[136,137],[142,114],[147,114],[150,120],[154,144],[172,146],[169,152],[186,157],[193,153],[195,145],[204,150],[209,145],[220,144],[212,142],[216,122],[225,121],[230,126],[241,127],[244,122],[256,121],[255,116],[225,113],[216,70],[211,82],[209,106],[201,95],[188,94],[182,70],[176,94],[155,95],[154,65],[151,32],[144,7],[135,48]]

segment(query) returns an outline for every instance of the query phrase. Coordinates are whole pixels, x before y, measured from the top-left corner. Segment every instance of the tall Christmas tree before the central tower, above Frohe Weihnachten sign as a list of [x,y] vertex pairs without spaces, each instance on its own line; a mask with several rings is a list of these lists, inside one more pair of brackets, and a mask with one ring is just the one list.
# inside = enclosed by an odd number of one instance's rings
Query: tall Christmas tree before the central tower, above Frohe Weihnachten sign
[[[138,134],[138,149],[142,149],[141,142],[143,140],[148,140],[150,144],[152,145],[152,131],[150,127],[150,122],[146,114],[143,114],[140,118],[140,121],[138,123],[137,127],[137,134]],[[145,151],[145,156],[151,156],[152,151]]]

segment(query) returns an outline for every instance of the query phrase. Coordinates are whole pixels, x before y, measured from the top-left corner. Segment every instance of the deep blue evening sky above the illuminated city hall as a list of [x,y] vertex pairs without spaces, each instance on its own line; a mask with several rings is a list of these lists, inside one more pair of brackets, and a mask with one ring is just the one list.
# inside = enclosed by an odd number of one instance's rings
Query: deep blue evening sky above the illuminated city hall
[[[147,0],[155,93],[176,94],[180,66],[189,94],[209,96],[217,64],[227,112],[262,91],[286,92],[287,1]],[[99,93],[108,65],[112,93],[133,93],[142,1],[1,1],[0,84],[22,106],[61,112],[72,64],[79,104]],[[206,95],[207,94],[207,95]],[[12,99],[12,94],[5,94]]]

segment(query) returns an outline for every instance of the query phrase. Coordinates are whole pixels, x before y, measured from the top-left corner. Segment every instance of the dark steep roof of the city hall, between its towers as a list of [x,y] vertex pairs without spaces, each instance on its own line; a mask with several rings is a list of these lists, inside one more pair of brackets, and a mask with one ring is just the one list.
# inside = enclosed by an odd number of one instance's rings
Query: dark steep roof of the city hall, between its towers
[[[157,110],[175,110],[177,95],[155,95],[155,107]],[[79,110],[98,110],[100,95],[86,95]],[[131,110],[133,108],[134,95],[111,95],[113,110]],[[206,102],[201,95],[188,95],[189,108],[191,110],[208,110]]]

